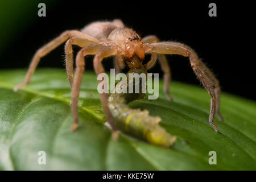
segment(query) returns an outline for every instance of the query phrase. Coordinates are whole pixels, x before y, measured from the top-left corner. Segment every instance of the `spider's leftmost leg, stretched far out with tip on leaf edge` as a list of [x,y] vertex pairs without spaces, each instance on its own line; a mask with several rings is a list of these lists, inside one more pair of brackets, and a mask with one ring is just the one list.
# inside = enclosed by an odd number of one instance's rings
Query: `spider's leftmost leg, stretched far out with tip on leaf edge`
[[42,48],[38,49],[38,51],[36,51],[35,55],[32,58],[32,61],[30,63],[30,67],[28,68],[27,75],[25,77],[24,82],[17,85],[14,88],[14,91],[16,92],[17,90],[19,90],[23,86],[26,86],[30,82],[31,76],[33,75],[41,57],[46,56],[53,49],[60,46],[60,44],[64,43],[66,40],[68,40],[68,38],[71,38],[73,36],[76,36],[77,38],[81,38],[81,39],[88,39],[92,42],[98,43],[97,39],[95,39],[91,36],[85,35],[82,32],[77,31],[77,30],[68,30],[68,31],[63,32],[60,36],[51,40],[51,42],[47,43]]

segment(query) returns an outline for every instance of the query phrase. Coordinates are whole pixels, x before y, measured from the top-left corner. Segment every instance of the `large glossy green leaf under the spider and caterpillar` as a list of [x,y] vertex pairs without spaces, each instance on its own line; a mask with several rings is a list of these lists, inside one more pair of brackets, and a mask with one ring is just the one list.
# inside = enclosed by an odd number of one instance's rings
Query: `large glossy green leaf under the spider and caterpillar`
[[[104,126],[105,115],[97,92],[97,77],[86,71],[82,81],[80,125],[71,132],[71,89],[64,70],[37,69],[31,84],[18,92],[26,70],[0,72],[0,169],[2,170],[255,170],[256,104],[222,93],[215,119],[220,132],[208,123],[210,96],[203,88],[172,82],[170,102],[160,81],[158,100],[131,102],[162,118],[160,125],[177,136],[171,148],[119,135]],[[38,152],[46,152],[46,165]],[[210,165],[209,151],[217,164]]]

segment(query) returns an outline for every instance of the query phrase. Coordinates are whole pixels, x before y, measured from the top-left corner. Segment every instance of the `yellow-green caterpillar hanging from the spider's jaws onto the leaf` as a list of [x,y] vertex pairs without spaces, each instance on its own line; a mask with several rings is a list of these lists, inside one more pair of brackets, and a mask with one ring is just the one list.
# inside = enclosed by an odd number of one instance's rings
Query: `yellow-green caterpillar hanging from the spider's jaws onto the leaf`
[[[128,78],[129,73],[131,74],[141,74],[147,73],[143,66],[139,69],[130,69],[126,77]],[[119,82],[120,83],[120,82]],[[134,86],[138,84],[129,85],[127,79],[127,90],[129,86]],[[122,86],[122,84],[120,84]],[[142,82],[139,81],[139,86],[142,88]],[[117,88],[115,88],[117,89]],[[142,89],[140,89],[142,90]],[[132,135],[142,140],[146,140],[149,143],[170,147],[174,144],[176,137],[171,136],[159,125],[162,120],[160,117],[152,117],[148,115],[148,110],[141,111],[140,109],[131,109],[127,104],[131,101],[139,100],[145,97],[144,93],[112,93],[109,96],[108,106],[110,112],[114,118],[115,127],[118,130],[123,131],[126,134]]]

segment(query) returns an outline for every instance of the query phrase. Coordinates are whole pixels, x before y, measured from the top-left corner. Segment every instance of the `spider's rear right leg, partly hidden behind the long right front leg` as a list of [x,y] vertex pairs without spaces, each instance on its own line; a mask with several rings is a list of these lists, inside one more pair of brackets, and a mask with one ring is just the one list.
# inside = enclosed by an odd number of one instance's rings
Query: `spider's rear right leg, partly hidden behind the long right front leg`
[[[149,35],[143,38],[144,43],[152,44],[159,42],[159,39],[155,35]],[[158,54],[158,61],[160,64],[160,67],[164,73],[163,79],[164,79],[164,93],[166,93],[168,99],[172,101],[172,95],[169,91],[170,89],[170,82],[171,82],[171,69],[167,62],[166,56],[163,54]]]

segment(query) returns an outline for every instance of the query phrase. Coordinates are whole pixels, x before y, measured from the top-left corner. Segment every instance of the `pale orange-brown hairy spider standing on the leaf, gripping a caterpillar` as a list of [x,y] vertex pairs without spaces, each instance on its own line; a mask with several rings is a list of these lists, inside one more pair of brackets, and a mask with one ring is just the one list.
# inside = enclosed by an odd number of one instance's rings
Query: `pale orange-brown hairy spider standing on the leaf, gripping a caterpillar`
[[[176,54],[189,58],[193,71],[212,97],[210,101],[209,123],[212,125],[213,129],[218,132],[218,127],[213,119],[215,114],[217,114],[220,120],[223,120],[219,111],[220,85],[213,73],[210,72],[205,64],[199,59],[196,52],[193,51],[192,48],[181,43],[159,42],[159,39],[154,35],[146,36],[142,39],[134,30],[125,27],[119,19],[114,19],[112,22],[93,22],[82,28],[80,31],[64,31],[60,36],[51,40],[51,42],[36,51],[30,63],[30,67],[28,68],[24,82],[17,85],[14,88],[14,91],[17,91],[30,82],[31,76],[41,57],[46,56],[49,52],[64,42],[66,42],[65,66],[67,69],[68,81],[72,89],[72,131],[76,130],[79,122],[77,102],[82,75],[85,69],[85,56],[95,55],[93,59],[93,67],[97,75],[105,72],[101,63],[105,57],[114,56],[114,67],[117,72],[120,72],[126,64],[131,69],[136,69],[143,65],[143,68],[147,70],[152,68],[158,59],[160,67],[164,73],[164,92],[167,94],[167,97],[172,100],[172,96],[169,92],[171,72],[165,55]],[[76,56],[76,74],[74,78],[73,44],[81,47],[81,50]],[[145,54],[151,54],[151,59],[146,64],[142,64]],[[134,59],[134,56],[136,56],[137,59]],[[112,127],[113,135],[117,136],[113,116],[108,107],[107,93],[101,94],[101,103],[104,107],[106,119]]]

